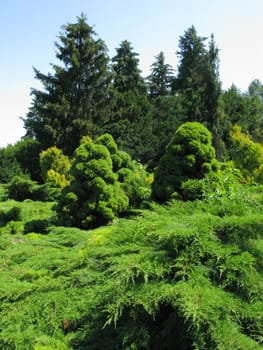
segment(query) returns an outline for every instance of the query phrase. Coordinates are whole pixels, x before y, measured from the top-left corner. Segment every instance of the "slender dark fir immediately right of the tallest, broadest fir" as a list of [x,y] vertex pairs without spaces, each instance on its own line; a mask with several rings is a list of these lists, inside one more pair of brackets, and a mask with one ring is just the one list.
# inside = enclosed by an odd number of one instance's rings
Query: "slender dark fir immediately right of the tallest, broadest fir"
[[112,59],[114,106],[104,131],[112,134],[120,149],[147,164],[153,156],[151,104],[137,56],[125,40]]

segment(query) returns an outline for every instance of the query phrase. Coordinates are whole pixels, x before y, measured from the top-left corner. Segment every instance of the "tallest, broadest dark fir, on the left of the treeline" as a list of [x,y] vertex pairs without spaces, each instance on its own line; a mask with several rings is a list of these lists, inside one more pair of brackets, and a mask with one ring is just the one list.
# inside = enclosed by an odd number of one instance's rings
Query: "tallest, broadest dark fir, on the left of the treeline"
[[24,120],[28,136],[42,148],[56,145],[72,154],[83,135],[92,137],[105,122],[109,108],[111,75],[107,48],[82,14],[62,27],[56,43],[54,73],[35,69],[43,90],[32,89],[33,101]]

